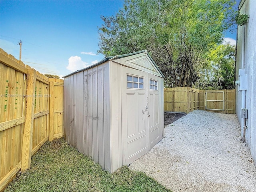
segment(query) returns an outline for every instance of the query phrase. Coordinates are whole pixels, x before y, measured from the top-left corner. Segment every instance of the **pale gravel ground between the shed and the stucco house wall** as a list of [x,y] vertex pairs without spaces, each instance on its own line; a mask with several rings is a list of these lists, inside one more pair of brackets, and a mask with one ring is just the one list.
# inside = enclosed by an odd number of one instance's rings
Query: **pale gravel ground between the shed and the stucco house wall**
[[256,168],[234,114],[190,112],[166,126],[165,138],[129,168],[174,192],[256,191]]

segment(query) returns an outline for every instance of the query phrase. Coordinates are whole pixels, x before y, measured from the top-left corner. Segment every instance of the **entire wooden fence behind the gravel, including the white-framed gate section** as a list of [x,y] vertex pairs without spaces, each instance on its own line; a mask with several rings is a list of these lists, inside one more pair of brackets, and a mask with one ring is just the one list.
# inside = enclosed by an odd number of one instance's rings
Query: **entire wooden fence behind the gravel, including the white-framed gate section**
[[164,89],[164,111],[189,113],[200,109],[235,114],[235,101],[235,89],[198,90],[190,87]]

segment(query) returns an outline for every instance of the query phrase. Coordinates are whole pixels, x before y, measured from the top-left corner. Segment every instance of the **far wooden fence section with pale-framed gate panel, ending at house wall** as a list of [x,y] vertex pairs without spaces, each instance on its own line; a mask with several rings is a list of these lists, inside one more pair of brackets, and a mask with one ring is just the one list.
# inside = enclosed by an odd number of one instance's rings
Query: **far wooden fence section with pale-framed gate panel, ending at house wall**
[[200,90],[200,110],[236,113],[236,90]]

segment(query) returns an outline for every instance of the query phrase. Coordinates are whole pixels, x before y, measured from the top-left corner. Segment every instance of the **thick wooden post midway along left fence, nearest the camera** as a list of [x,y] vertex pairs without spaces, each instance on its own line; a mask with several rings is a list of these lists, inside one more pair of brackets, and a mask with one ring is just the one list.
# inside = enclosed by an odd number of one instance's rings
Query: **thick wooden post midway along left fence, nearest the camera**
[[35,90],[36,90],[36,70],[26,66],[28,69],[27,87],[26,87],[26,119],[24,124],[24,134],[22,143],[21,170],[30,168],[31,150],[33,139],[34,124],[34,106],[35,106]]

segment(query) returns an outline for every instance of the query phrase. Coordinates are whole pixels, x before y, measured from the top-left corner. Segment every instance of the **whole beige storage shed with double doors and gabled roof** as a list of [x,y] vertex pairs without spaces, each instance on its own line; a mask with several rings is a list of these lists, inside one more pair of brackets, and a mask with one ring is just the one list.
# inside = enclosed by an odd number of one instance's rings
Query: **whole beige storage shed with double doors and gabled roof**
[[163,74],[147,50],[64,77],[66,140],[114,172],[164,137]]

